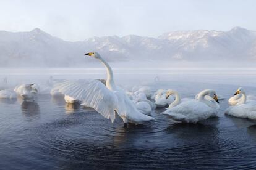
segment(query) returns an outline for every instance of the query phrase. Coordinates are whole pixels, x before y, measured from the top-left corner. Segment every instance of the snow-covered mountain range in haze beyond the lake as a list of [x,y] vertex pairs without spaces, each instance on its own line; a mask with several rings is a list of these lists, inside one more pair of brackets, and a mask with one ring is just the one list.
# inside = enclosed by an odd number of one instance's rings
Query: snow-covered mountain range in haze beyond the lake
[[256,32],[173,31],[158,38],[129,35],[103,36],[68,42],[35,28],[29,32],[0,31],[1,67],[76,67],[85,62],[84,52],[98,51],[110,62],[161,61],[256,61]]

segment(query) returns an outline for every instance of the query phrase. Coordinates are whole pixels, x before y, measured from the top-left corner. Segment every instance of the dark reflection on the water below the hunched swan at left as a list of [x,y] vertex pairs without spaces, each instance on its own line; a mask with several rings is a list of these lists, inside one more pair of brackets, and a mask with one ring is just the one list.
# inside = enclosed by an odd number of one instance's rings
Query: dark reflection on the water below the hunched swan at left
[[38,103],[35,102],[23,101],[21,104],[21,109],[23,115],[25,115],[27,118],[38,118],[38,115],[40,115],[40,107]]

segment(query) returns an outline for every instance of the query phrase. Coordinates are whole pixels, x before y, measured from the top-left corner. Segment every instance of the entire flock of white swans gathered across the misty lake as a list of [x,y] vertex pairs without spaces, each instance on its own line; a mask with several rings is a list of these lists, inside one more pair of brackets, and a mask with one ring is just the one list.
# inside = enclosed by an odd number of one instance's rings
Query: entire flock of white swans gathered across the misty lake
[[[97,52],[85,55],[100,60],[106,67],[106,81],[99,79],[86,79],[77,81],[61,81],[55,84],[51,91],[53,97],[64,97],[67,103],[82,103],[92,107],[102,116],[111,119],[113,123],[116,113],[127,123],[144,123],[153,120],[151,111],[155,107],[167,107],[163,114],[171,116],[178,121],[197,123],[203,119],[216,116],[220,108],[216,92],[206,89],[199,92],[195,99],[181,99],[173,89],[159,89],[153,94],[149,87],[134,87],[132,92],[125,92],[114,83],[114,75],[109,64]],[[0,98],[12,98],[19,95],[23,100],[34,100],[39,87],[36,84],[22,84],[15,87],[14,91],[0,91]],[[173,97],[174,96],[174,97]],[[155,100],[155,103],[151,100]],[[256,102],[247,100],[244,89],[239,88],[234,97],[229,99],[231,107],[226,114],[242,118],[256,119]]]

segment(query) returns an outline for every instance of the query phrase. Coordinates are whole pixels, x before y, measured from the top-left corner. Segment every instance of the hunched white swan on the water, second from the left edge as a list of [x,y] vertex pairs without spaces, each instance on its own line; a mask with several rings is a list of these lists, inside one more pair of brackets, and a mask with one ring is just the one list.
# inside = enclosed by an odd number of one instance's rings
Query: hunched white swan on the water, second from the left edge
[[22,97],[25,101],[34,101],[36,95],[38,94],[38,89],[36,89],[36,84],[22,84],[15,87],[14,91]]

